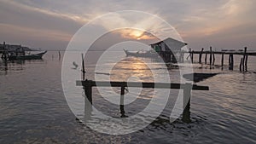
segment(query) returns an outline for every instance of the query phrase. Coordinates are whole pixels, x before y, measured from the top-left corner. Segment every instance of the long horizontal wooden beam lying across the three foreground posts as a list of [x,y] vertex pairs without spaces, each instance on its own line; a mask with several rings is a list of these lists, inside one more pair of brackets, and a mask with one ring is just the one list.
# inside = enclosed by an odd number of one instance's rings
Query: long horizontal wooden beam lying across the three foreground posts
[[157,88],[157,89],[193,89],[193,90],[209,90],[208,86],[199,86],[196,84],[166,84],[166,83],[139,83],[139,82],[107,82],[107,81],[77,81],[77,86],[91,87],[137,87],[137,88]]

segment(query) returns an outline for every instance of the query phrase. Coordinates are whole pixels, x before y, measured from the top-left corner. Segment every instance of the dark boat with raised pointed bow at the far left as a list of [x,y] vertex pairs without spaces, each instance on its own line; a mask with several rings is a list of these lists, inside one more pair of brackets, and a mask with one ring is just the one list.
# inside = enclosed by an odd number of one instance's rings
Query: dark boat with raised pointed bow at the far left
[[42,59],[43,55],[47,53],[47,51],[44,51],[42,53],[38,54],[31,54],[31,55],[9,55],[9,60],[38,60]]

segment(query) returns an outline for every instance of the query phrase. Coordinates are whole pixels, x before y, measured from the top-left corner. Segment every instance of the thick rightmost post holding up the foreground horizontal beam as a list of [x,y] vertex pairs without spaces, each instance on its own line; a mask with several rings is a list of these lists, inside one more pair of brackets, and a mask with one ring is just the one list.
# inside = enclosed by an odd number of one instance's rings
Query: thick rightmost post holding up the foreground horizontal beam
[[183,122],[190,123],[190,96],[191,96],[191,84],[185,84],[185,88],[183,89]]

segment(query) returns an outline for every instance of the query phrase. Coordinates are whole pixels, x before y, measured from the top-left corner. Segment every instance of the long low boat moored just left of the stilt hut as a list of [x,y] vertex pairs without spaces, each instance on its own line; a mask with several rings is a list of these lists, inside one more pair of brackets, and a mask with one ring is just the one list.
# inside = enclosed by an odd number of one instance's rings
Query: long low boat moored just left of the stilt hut
[[126,56],[135,56],[135,57],[150,57],[150,58],[157,58],[159,55],[152,50],[141,50],[137,52],[131,52],[124,49]]

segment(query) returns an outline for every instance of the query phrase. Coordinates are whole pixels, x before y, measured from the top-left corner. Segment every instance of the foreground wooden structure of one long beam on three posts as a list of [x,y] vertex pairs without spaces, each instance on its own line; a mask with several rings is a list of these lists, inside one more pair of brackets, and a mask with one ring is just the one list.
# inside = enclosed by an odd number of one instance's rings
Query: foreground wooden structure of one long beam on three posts
[[190,122],[190,96],[191,90],[209,90],[208,86],[199,86],[196,84],[166,84],[166,83],[139,83],[139,82],[104,82],[92,80],[79,80],[76,81],[77,86],[83,86],[87,100],[92,104],[92,87],[119,87],[120,88],[120,112],[125,116],[124,111],[124,95],[125,87],[135,88],[154,88],[154,89],[183,89],[183,122]]

